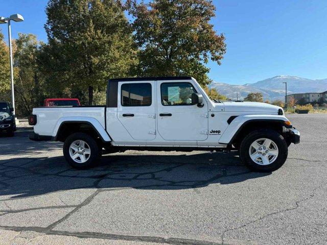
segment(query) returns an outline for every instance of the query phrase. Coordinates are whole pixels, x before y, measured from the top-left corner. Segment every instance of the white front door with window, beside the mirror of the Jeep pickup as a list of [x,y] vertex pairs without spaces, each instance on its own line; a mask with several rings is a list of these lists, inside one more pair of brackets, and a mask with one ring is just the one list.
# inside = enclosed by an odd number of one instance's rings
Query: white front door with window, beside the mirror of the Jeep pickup
[[165,140],[205,140],[208,135],[208,105],[192,104],[197,93],[190,82],[157,81],[157,127]]

